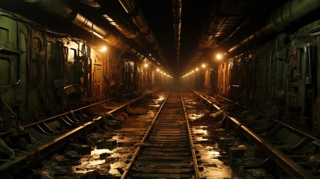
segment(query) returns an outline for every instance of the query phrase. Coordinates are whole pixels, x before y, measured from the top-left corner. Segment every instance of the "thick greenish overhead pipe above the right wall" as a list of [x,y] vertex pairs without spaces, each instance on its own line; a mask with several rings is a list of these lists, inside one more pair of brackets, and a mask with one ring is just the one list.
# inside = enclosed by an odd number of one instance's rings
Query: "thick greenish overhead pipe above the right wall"
[[289,0],[282,6],[273,10],[268,21],[261,29],[244,38],[239,44],[228,49],[228,53],[233,53],[243,44],[248,43],[254,38],[261,38],[266,35],[282,32],[295,20],[309,14],[320,7],[320,0]]

